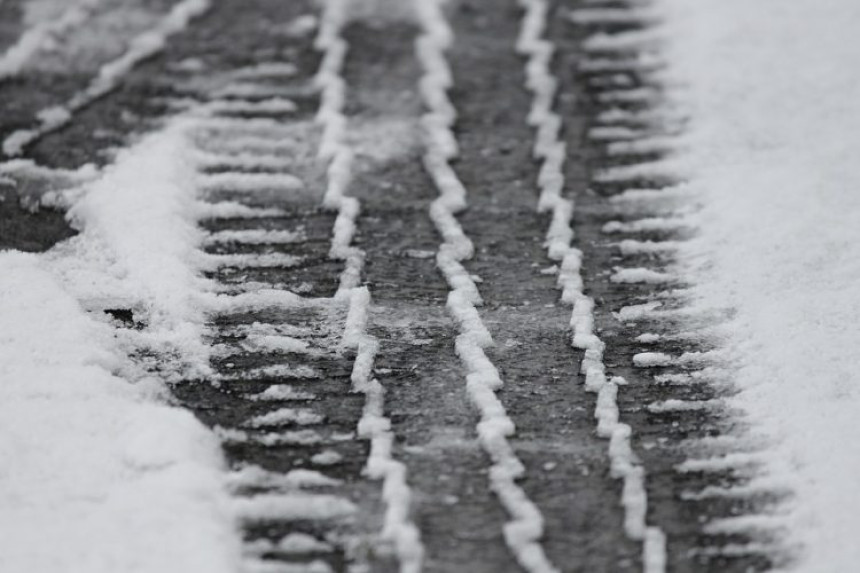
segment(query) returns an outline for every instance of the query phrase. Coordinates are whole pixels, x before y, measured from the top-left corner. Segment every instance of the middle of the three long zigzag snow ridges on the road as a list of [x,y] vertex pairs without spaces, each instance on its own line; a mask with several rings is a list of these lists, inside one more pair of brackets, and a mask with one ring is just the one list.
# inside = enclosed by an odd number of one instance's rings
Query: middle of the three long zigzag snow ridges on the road
[[458,150],[451,130],[456,110],[447,95],[453,79],[445,57],[453,32],[442,11],[442,2],[444,0],[415,2],[423,28],[415,46],[424,69],[419,89],[428,108],[421,120],[426,137],[424,167],[440,193],[430,206],[430,218],[443,238],[436,264],[451,289],[447,307],[459,323],[460,331],[456,352],[468,371],[469,397],[481,413],[477,425],[479,440],[493,462],[490,486],[511,517],[504,525],[505,543],[527,571],[553,573],[558,569],[550,563],[539,543],[543,536],[543,516],[516,484],[525,468],[508,442],[508,436],[516,431],[514,423],[495,394],[503,385],[502,379],[484,352],[493,345],[493,339],[476,308],[482,304],[481,295],[461,264],[472,257],[474,247],[454,216],[466,207],[466,189],[448,163]]

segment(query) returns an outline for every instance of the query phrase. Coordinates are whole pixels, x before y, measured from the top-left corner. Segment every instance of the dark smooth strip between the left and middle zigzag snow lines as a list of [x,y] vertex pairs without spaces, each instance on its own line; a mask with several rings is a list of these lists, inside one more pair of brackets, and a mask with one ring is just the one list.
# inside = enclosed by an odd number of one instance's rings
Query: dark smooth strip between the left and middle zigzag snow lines
[[436,193],[421,167],[417,33],[409,11],[377,12],[345,30],[354,47],[344,74],[353,86],[351,192],[363,206],[357,241],[374,292],[368,328],[380,340],[375,374],[398,436],[396,457],[409,469],[425,570],[513,570],[504,512],[486,486],[486,454],[463,400],[444,306],[448,287],[434,265],[438,236],[427,213]]

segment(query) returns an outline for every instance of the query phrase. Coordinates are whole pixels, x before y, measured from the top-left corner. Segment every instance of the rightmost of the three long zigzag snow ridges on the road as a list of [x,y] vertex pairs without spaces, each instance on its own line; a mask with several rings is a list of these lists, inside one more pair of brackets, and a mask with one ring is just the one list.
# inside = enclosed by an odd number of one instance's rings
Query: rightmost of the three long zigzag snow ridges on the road
[[581,371],[585,374],[586,389],[597,392],[597,433],[609,439],[610,473],[624,483],[621,504],[625,514],[625,533],[630,539],[642,542],[644,570],[661,573],[666,569],[665,534],[660,528],[649,526],[646,522],[648,502],[645,472],[630,447],[630,426],[618,421],[618,387],[625,381],[620,377],[606,379],[603,364],[605,345],[593,332],[594,300],[583,292],[580,274],[582,253],[571,246],[574,204],[561,195],[566,148],[559,138],[562,119],[553,111],[558,87],[558,81],[550,70],[554,46],[542,39],[549,3],[546,0],[520,0],[519,3],[525,13],[516,49],[528,56],[525,66],[526,87],[534,94],[534,99],[527,121],[537,131],[534,156],[542,161],[538,174],[538,211],[552,213],[545,245],[549,257],[561,262],[557,286],[562,291],[562,302],[573,306],[573,346],[585,351]]

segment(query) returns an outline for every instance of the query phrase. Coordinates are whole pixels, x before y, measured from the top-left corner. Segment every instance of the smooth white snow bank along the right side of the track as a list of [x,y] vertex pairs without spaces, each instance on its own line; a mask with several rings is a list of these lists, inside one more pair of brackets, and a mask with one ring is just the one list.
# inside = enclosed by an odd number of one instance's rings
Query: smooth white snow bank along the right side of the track
[[796,567],[860,563],[860,4],[661,0],[681,159],[701,190],[683,257],[737,310],[732,403],[781,444]]

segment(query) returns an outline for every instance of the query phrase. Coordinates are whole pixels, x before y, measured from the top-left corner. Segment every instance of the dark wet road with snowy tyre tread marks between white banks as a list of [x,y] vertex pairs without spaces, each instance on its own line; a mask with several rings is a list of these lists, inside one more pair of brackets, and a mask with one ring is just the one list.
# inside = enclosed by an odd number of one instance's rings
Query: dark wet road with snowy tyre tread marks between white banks
[[249,571],[773,566],[735,518],[781,494],[727,493],[755,446],[721,407],[720,317],[685,313],[682,121],[639,2],[155,4],[188,21],[141,24],[163,46],[110,85],[128,52],[0,82],[6,159],[45,168],[0,185],[0,243],[73,235],[13,199],[190,118],[230,302],[212,374],[172,389],[222,437]]

